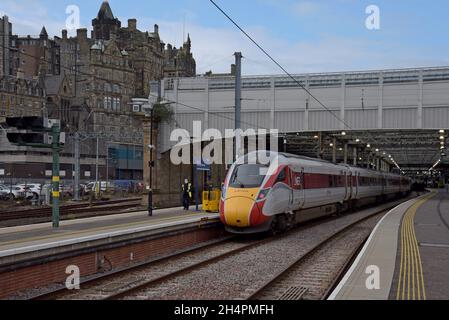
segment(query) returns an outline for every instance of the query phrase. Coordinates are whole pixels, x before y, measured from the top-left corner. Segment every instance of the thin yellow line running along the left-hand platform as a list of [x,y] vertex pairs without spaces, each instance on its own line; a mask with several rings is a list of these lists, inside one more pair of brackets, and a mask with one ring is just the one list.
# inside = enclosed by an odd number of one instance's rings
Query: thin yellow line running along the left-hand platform
[[[113,231],[116,231],[117,229],[120,230],[123,228],[134,227],[134,226],[146,227],[146,226],[151,226],[152,224],[155,224],[158,222],[167,222],[167,221],[176,220],[179,218],[193,218],[193,217],[198,217],[201,215],[202,214],[197,213],[197,214],[190,214],[190,215],[184,215],[184,216],[163,218],[163,219],[158,219],[158,220],[150,220],[150,221],[147,221],[147,223],[145,223],[145,224],[144,224],[145,221],[140,221],[140,222],[127,223],[127,224],[117,224],[117,225],[106,226],[106,227],[98,227],[98,228],[87,229],[87,230],[82,230],[82,231],[68,232],[68,233],[63,233],[63,234],[53,234],[53,235],[47,235],[47,236],[30,237],[30,238],[25,238],[25,239],[21,239],[21,240],[2,242],[0,248],[3,246],[16,244],[16,243],[26,243],[26,242],[32,242],[32,241],[37,241],[37,240],[47,240],[47,239],[53,239],[53,238],[64,238],[64,237],[71,236],[71,235],[80,235],[81,236],[84,234],[90,234],[92,232],[97,232],[97,231],[109,230],[109,231],[113,232]],[[29,230],[29,231],[33,231],[33,230]]]

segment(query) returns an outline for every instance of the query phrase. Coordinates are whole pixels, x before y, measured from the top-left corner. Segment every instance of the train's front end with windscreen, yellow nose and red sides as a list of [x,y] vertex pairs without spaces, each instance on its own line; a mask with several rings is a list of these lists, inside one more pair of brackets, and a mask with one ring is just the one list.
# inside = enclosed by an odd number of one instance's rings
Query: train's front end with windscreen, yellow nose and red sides
[[271,227],[272,217],[263,214],[269,190],[262,186],[269,166],[235,164],[223,186],[220,217],[227,231],[259,233]]

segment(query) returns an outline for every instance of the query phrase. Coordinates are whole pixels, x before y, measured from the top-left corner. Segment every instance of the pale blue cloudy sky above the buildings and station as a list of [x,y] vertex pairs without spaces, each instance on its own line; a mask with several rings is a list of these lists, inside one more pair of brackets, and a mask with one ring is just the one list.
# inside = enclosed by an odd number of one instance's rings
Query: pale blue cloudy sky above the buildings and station
[[[43,25],[60,35],[76,5],[81,27],[91,29],[99,0],[0,0],[14,33],[37,35]],[[292,73],[449,65],[447,0],[216,0]],[[208,0],[111,0],[126,26],[155,23],[166,43],[179,46],[190,33],[198,72],[227,72],[242,51],[245,74],[281,71]],[[369,30],[366,8],[380,10],[380,29]],[[185,27],[184,27],[185,26]],[[185,30],[185,33],[184,33]]]

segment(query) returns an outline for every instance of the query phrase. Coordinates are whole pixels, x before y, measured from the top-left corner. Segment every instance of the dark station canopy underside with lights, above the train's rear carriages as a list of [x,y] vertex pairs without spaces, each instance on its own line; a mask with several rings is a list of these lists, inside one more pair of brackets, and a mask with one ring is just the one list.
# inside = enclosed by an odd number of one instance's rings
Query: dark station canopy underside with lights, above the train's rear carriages
[[[354,148],[357,149],[359,165],[366,165],[368,158],[373,161],[375,157],[380,157],[393,166],[397,163],[404,172],[428,171],[440,159],[441,163],[449,162],[446,156],[449,146],[448,130],[444,133],[440,130],[339,130],[288,133],[283,136],[287,142],[287,152],[315,158],[320,155],[321,137],[321,157],[330,161],[333,159],[332,145],[336,141],[336,160],[339,163],[344,162],[346,144],[348,164],[353,164]],[[282,146],[280,149],[282,150]]]

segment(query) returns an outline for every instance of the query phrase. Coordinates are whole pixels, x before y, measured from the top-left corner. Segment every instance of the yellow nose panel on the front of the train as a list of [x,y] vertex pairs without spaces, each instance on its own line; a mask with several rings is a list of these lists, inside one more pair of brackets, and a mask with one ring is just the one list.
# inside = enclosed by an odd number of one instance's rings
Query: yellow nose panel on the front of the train
[[225,219],[231,227],[245,228],[251,226],[251,210],[254,200],[245,197],[235,197],[226,200]]

